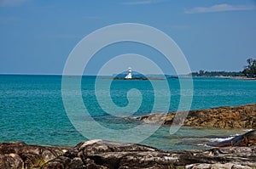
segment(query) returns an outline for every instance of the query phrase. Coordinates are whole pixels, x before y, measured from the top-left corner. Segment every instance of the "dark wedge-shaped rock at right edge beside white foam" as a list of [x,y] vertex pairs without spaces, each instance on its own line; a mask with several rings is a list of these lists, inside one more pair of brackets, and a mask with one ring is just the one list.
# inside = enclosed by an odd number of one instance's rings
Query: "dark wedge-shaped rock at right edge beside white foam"
[[247,146],[256,146],[256,130],[247,132],[245,134],[242,134],[240,136],[236,136],[235,138],[232,138],[230,140],[226,140],[220,143],[214,143],[209,144],[214,147],[233,147],[233,146],[239,146],[239,147],[247,147]]

